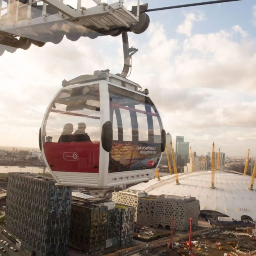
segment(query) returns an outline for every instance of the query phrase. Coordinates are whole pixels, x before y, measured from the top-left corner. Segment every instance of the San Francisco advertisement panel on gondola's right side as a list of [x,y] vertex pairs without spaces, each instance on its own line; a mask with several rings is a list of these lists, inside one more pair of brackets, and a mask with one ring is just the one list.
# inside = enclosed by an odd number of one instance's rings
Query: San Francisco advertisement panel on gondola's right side
[[161,153],[161,143],[113,142],[109,173],[156,168]]

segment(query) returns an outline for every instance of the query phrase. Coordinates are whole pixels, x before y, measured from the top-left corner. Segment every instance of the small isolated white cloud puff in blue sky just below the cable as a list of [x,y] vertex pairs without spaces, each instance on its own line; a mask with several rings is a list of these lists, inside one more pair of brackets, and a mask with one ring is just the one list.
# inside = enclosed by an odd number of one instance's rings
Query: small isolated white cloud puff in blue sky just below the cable
[[186,13],[185,17],[184,22],[178,26],[176,32],[190,37],[194,21],[202,21],[205,16],[203,13]]

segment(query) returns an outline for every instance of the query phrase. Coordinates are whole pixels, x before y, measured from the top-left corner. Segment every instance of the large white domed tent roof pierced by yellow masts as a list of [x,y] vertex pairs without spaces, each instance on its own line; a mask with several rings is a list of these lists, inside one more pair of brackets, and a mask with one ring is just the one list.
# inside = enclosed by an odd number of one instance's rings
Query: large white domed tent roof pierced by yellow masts
[[[249,190],[251,177],[237,172],[216,171],[214,189],[211,189],[211,171],[194,171],[167,175],[141,182],[129,187],[144,190],[150,195],[177,195],[196,197],[200,201],[200,212],[215,212],[231,217],[235,221],[251,220],[256,217],[256,190]],[[256,188],[256,187],[255,187]]]

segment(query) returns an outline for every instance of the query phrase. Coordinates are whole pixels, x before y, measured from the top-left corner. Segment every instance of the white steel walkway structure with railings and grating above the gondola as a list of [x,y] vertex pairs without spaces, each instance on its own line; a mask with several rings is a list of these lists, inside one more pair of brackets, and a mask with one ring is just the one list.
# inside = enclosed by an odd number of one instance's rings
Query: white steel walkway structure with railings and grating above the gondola
[[[133,15],[130,11],[123,7],[123,1],[114,4],[101,4],[101,0],[95,0],[97,6],[91,8],[83,8],[81,0],[77,0],[77,9],[62,3],[62,0],[42,0],[42,14],[37,18],[31,18],[33,11],[32,0],[29,0],[27,9],[27,18],[19,20],[17,17],[18,10],[13,14],[10,12],[10,2],[8,5],[7,19],[2,24],[0,23],[0,30],[5,33],[10,33],[18,36],[24,36],[31,39],[40,36],[40,34],[47,33],[54,35],[54,33],[69,31],[82,31],[83,29],[94,26],[97,29],[109,30],[113,27],[129,27],[131,24],[137,23],[139,18]],[[40,0],[37,0],[40,1]],[[1,4],[2,0],[0,0]],[[47,4],[57,9],[58,13],[47,13]],[[24,5],[17,6],[18,8]],[[26,6],[26,5],[25,5]],[[3,8],[1,8],[3,11]],[[2,12],[3,13],[3,12]],[[15,15],[16,14],[16,15]],[[0,16],[1,18],[1,16]],[[19,20],[19,21],[18,21]]]

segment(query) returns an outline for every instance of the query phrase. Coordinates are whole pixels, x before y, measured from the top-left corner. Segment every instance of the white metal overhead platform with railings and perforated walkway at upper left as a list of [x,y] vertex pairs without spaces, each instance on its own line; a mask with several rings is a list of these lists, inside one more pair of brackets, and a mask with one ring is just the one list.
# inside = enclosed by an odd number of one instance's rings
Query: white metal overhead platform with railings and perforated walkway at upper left
[[96,6],[86,8],[81,6],[81,0],[74,0],[75,7],[63,0],[0,0],[0,35],[7,33],[42,42],[47,34],[88,33],[88,29],[104,33],[113,28],[129,28],[139,21],[139,11],[135,16],[124,8],[123,1],[92,1]]

